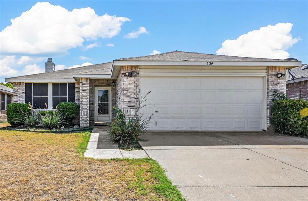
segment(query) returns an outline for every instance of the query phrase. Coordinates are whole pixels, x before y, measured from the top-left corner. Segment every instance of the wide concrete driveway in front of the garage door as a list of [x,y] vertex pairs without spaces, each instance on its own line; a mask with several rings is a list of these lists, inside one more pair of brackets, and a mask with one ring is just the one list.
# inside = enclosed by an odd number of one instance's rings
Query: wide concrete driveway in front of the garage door
[[268,132],[147,132],[140,144],[190,201],[308,200],[308,139]]

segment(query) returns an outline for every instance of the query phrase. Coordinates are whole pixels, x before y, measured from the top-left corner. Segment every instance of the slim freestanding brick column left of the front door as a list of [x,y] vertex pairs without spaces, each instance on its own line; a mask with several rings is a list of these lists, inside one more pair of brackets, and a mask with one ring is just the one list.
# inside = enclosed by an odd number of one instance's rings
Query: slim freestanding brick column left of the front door
[[80,78],[80,127],[90,125],[90,78]]

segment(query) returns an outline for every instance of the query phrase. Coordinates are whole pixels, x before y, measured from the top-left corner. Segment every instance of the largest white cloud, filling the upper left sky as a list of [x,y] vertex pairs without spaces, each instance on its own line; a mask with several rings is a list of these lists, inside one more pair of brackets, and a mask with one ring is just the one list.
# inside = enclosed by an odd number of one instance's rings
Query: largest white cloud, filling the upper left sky
[[49,2],[38,2],[0,32],[1,51],[6,55],[66,53],[83,46],[84,40],[118,35],[126,17],[99,16],[90,8],[68,11]]

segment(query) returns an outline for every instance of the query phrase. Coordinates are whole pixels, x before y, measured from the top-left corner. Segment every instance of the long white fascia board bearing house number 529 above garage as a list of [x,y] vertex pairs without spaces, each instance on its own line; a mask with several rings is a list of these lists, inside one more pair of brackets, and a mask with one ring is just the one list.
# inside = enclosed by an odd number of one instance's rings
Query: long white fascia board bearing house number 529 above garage
[[114,65],[301,66],[301,61],[114,61]]

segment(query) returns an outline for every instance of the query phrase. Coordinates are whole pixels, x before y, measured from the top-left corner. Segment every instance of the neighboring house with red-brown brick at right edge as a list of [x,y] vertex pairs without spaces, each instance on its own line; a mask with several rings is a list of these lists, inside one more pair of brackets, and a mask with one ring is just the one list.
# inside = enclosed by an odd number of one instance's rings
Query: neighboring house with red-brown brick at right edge
[[[304,66],[306,64],[303,64]],[[286,70],[286,95],[291,99],[308,100],[308,69],[298,66],[290,70]],[[294,76],[292,79],[292,76]]]

